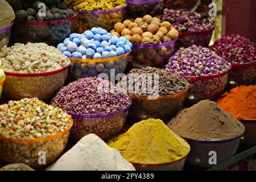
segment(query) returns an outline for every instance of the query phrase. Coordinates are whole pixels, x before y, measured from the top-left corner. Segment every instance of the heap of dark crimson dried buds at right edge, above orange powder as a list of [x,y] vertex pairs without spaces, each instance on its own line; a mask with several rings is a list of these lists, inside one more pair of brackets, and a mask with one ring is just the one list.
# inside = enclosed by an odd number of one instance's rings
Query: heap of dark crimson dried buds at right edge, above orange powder
[[210,49],[232,64],[256,62],[256,49],[253,43],[238,34],[226,35],[216,40]]

